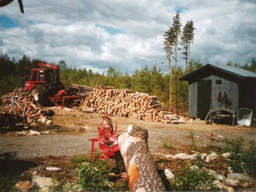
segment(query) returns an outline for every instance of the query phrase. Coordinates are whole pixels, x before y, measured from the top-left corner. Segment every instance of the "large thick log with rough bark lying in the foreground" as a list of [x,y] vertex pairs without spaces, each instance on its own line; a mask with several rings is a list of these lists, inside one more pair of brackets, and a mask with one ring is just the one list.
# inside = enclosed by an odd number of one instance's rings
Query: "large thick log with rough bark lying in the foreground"
[[120,151],[128,174],[131,191],[165,191],[153,157],[148,151],[147,131],[130,125],[128,132],[118,137]]

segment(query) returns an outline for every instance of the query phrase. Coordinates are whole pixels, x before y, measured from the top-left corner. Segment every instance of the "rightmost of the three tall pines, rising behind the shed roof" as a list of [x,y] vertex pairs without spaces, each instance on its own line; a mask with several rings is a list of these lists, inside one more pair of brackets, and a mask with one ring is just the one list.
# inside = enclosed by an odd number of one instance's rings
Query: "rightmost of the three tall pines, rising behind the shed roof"
[[186,25],[183,27],[182,37],[181,37],[181,44],[183,46],[183,59],[186,60],[186,69],[188,69],[189,65],[189,56],[190,56],[190,44],[193,43],[194,39],[194,24],[193,21],[188,21]]

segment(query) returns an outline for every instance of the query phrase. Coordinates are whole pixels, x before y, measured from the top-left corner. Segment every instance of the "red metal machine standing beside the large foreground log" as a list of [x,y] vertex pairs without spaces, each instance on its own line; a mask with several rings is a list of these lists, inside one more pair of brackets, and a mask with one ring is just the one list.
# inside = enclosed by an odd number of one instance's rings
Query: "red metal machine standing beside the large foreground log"
[[98,127],[98,138],[90,139],[90,141],[92,141],[91,161],[94,157],[94,142],[98,142],[99,149],[103,152],[103,155],[98,156],[98,158],[115,158],[116,155],[120,152],[117,140],[117,122],[114,131],[110,116],[105,114],[102,116],[102,119],[103,120],[101,122],[101,126]]

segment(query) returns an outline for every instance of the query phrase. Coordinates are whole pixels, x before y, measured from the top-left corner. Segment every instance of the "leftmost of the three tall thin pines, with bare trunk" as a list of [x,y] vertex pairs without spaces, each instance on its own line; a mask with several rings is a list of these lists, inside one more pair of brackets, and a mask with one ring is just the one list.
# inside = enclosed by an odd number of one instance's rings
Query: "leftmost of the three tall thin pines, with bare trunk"
[[174,36],[173,36],[173,27],[170,27],[165,33],[164,33],[164,51],[166,53],[166,58],[169,61],[169,76],[170,76],[170,100],[169,100],[169,110],[171,111],[171,55],[172,52],[172,46],[174,43]]

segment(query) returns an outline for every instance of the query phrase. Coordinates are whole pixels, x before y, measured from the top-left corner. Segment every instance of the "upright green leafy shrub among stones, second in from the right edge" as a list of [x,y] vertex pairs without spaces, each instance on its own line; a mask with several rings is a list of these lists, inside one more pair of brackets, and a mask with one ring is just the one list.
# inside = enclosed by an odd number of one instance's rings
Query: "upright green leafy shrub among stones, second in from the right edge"
[[244,172],[244,150],[243,142],[244,139],[239,137],[235,140],[225,140],[226,146],[224,150],[230,153],[229,161],[227,165],[231,167],[233,172],[243,173]]

